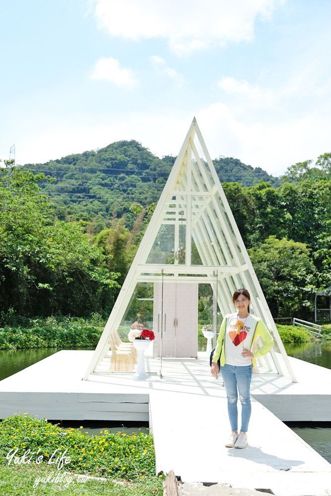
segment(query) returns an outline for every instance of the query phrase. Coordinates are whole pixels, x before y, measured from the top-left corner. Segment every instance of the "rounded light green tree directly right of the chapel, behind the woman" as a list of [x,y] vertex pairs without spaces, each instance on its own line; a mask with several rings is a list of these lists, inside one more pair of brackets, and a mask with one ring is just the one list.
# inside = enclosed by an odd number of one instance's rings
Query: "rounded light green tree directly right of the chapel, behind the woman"
[[269,236],[248,252],[273,316],[310,316],[317,271],[307,245]]

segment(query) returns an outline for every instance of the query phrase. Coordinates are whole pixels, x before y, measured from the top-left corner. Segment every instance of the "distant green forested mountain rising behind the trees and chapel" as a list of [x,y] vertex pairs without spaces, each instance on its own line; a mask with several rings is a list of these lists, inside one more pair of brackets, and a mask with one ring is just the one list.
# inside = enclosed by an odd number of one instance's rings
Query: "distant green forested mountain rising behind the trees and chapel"
[[[175,160],[172,156],[160,159],[131,140],[45,164],[25,164],[23,168],[55,178],[41,186],[52,198],[60,219],[85,222],[99,219],[103,229],[106,219],[123,216],[130,227],[132,203],[147,207],[157,202]],[[221,183],[252,186],[263,180],[273,186],[279,184],[278,178],[238,159],[217,158],[213,162]]]

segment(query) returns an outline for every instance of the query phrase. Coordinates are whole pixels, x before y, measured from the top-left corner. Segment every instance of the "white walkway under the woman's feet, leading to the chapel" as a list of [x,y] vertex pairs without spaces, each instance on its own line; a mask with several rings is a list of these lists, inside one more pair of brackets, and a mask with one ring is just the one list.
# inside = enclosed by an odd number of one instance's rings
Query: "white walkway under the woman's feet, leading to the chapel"
[[186,482],[269,489],[278,496],[331,495],[331,464],[254,399],[249,445],[225,448],[225,390],[213,378],[194,380],[190,392],[173,388],[150,395],[158,470],[173,469]]

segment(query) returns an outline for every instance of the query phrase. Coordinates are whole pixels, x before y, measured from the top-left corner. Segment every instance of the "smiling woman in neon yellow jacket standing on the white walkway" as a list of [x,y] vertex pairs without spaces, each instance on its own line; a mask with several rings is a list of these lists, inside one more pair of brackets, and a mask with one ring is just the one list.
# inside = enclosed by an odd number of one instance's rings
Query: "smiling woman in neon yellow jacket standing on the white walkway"
[[[228,415],[231,434],[225,446],[245,448],[251,417],[250,387],[255,358],[263,357],[273,346],[273,339],[261,318],[250,313],[251,297],[247,289],[237,289],[232,296],[237,312],[225,315],[216,348],[212,357],[211,373],[218,374],[220,368],[228,399]],[[255,350],[254,343],[261,336],[263,346]],[[254,352],[252,350],[255,350]],[[238,435],[237,400],[241,402],[241,429]]]

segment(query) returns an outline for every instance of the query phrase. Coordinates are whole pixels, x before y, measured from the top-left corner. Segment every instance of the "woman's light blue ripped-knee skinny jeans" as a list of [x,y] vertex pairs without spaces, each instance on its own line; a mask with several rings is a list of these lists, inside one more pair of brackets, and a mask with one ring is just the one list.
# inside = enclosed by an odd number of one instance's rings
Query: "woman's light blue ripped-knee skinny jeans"
[[[251,417],[250,387],[252,379],[252,365],[234,367],[225,364],[221,367],[222,377],[228,398],[228,414],[232,431],[238,430],[238,392],[241,402],[241,432],[248,431],[248,423]],[[238,387],[238,392],[237,392]]]

